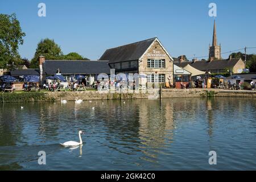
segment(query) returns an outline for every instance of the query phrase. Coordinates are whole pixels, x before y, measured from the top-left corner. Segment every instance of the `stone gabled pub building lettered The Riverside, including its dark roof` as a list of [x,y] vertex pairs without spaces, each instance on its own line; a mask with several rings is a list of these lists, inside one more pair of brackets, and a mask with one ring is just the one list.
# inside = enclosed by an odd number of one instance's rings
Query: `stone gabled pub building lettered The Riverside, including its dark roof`
[[148,82],[174,84],[174,59],[158,38],[107,49],[100,60],[108,60],[115,74],[138,73],[146,76],[140,78],[141,85]]

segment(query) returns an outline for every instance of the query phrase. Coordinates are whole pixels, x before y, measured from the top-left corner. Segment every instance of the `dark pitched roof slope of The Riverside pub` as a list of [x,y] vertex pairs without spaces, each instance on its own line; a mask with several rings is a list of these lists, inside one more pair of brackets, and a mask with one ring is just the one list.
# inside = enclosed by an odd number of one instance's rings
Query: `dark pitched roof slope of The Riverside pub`
[[139,60],[139,58],[144,52],[146,52],[147,48],[150,47],[155,39],[156,38],[151,38],[142,40],[140,42],[127,44],[125,46],[107,49],[101,56],[100,60],[109,60],[109,63]]

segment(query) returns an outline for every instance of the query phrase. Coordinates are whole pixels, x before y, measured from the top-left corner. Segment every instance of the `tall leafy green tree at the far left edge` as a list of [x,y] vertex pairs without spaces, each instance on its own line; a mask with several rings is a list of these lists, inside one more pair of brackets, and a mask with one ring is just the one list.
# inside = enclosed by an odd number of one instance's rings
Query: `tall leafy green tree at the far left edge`
[[18,49],[25,35],[16,14],[0,14],[0,68],[6,69],[7,64],[20,63]]

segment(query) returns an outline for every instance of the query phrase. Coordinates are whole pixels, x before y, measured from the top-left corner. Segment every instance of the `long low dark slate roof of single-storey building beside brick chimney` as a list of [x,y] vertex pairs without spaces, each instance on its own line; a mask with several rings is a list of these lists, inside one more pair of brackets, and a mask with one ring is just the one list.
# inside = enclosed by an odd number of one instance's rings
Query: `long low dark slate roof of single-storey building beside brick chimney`
[[54,75],[57,69],[61,74],[85,75],[85,74],[110,74],[108,61],[79,61],[79,60],[46,60],[43,70],[46,75]]

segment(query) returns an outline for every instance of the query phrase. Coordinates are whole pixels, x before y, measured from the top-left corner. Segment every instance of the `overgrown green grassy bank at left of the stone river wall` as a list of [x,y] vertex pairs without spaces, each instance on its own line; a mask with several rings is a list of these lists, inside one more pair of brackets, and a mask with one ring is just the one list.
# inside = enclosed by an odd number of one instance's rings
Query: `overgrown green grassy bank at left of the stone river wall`
[[36,102],[47,101],[47,94],[44,92],[15,92],[15,93],[1,93],[0,103],[7,102]]

